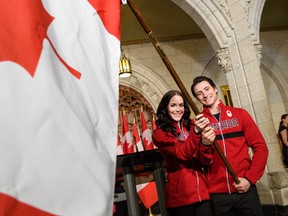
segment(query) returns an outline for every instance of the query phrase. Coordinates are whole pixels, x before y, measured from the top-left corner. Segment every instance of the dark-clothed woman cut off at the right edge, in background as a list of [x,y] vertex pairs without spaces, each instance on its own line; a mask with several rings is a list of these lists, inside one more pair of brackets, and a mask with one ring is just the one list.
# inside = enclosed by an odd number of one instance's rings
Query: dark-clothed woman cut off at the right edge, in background
[[288,126],[288,114],[281,116],[281,121],[279,124],[278,135],[282,143],[282,152],[283,152],[283,162],[288,168],[288,135],[287,135],[287,126]]

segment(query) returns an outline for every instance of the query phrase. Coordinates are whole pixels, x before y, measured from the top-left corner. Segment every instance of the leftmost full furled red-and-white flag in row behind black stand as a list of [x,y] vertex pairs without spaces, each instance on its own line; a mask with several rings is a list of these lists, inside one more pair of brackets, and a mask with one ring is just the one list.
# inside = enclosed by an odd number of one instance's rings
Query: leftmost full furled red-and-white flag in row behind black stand
[[125,111],[122,113],[122,148],[124,154],[134,153],[134,145],[129,126],[126,119]]

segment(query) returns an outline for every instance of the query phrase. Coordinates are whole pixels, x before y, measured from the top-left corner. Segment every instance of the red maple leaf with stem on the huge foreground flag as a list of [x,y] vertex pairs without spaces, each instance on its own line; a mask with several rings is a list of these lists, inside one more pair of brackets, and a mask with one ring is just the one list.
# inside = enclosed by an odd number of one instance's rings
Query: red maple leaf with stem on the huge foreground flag
[[33,77],[46,38],[62,64],[80,79],[81,73],[59,56],[47,36],[53,20],[41,0],[0,0],[0,62],[18,63]]

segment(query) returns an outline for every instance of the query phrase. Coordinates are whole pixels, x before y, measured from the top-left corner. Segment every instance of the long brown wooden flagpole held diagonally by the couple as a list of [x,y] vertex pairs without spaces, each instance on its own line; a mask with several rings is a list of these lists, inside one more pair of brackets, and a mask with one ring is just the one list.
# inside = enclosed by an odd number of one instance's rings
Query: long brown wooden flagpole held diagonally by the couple
[[[192,98],[190,97],[190,95],[189,95],[188,91],[186,90],[185,86],[183,85],[181,79],[177,75],[174,67],[172,66],[170,60],[166,56],[164,50],[160,47],[160,44],[159,44],[157,38],[154,36],[152,30],[150,29],[150,27],[148,26],[148,24],[144,20],[143,16],[141,15],[141,13],[140,13],[139,9],[137,8],[134,0],[127,0],[127,3],[129,5],[130,9],[132,10],[132,12],[134,13],[134,15],[136,16],[137,20],[139,21],[139,23],[143,27],[144,31],[146,32],[146,34],[147,34],[148,38],[150,39],[150,41],[152,42],[153,46],[157,50],[157,52],[160,55],[162,61],[166,65],[167,69],[169,70],[170,74],[174,78],[174,80],[175,80],[176,84],[178,85],[179,89],[182,91],[184,97],[187,99],[187,101],[188,101],[189,105],[191,106],[193,112],[195,113],[195,115],[198,115],[200,113],[198,108],[196,107],[195,103],[193,102]],[[214,144],[214,147],[215,147],[216,151],[218,152],[219,156],[221,157],[222,161],[224,162],[225,166],[227,167],[229,173],[233,177],[234,181],[236,182],[236,184],[239,184],[240,181],[239,181],[238,177],[236,176],[236,174],[235,174],[233,168],[231,167],[230,163],[228,162],[227,158],[223,154],[220,146],[218,145],[218,143],[216,141],[214,141],[213,144]]]

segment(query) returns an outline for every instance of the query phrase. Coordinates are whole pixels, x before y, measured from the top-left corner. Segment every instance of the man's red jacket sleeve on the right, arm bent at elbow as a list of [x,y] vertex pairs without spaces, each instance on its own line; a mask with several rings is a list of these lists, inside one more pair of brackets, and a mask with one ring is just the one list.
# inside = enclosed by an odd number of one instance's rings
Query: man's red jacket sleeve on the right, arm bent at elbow
[[244,136],[248,146],[251,147],[253,151],[251,166],[245,173],[245,178],[252,184],[255,184],[264,173],[268,158],[268,148],[259,128],[249,113],[243,110],[241,115],[243,116]]

